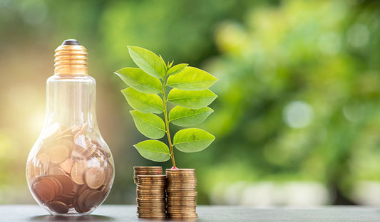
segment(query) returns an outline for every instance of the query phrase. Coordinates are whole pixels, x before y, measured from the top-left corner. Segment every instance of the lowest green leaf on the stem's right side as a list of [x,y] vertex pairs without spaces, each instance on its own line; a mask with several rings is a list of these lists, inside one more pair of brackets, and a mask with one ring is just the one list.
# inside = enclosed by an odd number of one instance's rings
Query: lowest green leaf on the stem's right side
[[199,152],[206,149],[215,137],[203,129],[182,129],[173,138],[174,146],[182,152]]

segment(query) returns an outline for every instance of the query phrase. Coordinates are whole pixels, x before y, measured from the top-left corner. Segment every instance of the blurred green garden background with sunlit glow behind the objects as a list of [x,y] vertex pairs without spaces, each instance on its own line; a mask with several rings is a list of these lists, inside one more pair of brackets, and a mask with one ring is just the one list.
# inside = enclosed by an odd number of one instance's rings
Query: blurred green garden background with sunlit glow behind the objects
[[[98,125],[115,159],[106,203],[135,203],[140,157],[126,46],[220,80],[200,127],[217,139],[175,157],[198,204],[380,205],[379,1],[0,0],[0,203],[34,203],[25,179],[43,126],[54,49],[76,38],[97,80]],[[174,130],[177,130],[173,127]]]

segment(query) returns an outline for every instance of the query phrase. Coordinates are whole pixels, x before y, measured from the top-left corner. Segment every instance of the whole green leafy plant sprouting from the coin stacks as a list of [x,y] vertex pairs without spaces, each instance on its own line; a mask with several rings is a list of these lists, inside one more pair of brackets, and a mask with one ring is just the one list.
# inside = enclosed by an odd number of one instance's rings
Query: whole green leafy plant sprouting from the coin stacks
[[[182,152],[199,152],[215,137],[203,129],[181,129],[170,137],[169,123],[192,127],[203,122],[214,110],[208,105],[217,95],[210,88],[217,78],[188,64],[173,66],[145,48],[128,46],[130,57],[139,68],[122,68],[115,72],[129,88],[121,90],[130,107],[135,125],[150,139],[134,147],[146,159],[165,162],[175,159],[173,147]],[[176,105],[168,112],[168,102]],[[163,118],[156,114],[163,114]],[[157,139],[168,137],[169,147]]]

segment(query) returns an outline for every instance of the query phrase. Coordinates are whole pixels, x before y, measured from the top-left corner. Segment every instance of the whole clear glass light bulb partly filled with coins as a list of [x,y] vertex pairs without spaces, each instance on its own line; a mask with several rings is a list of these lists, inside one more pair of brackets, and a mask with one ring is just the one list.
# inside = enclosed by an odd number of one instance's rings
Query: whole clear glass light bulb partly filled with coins
[[113,184],[113,157],[96,122],[96,81],[88,75],[87,55],[74,39],[56,49],[45,124],[26,163],[31,194],[53,215],[91,213]]

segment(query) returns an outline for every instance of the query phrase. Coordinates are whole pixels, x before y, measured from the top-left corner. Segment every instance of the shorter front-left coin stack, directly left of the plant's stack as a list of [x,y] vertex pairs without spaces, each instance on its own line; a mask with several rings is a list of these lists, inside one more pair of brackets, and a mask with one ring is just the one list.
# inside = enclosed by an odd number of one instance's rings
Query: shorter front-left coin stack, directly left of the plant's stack
[[138,175],[137,179],[138,217],[166,218],[166,176]]

